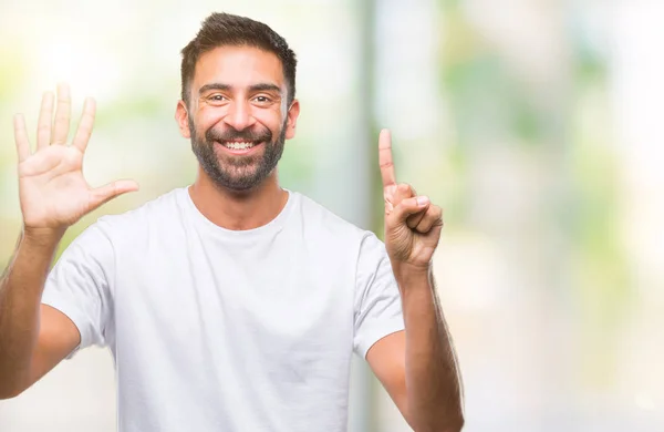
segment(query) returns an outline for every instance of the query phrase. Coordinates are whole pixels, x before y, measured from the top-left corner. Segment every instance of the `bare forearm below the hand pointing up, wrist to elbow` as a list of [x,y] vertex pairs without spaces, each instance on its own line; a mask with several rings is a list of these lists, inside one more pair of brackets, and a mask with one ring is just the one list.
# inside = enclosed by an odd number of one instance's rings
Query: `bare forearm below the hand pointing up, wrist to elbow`
[[428,271],[395,272],[406,326],[409,421],[419,431],[459,431],[464,423],[456,356]]

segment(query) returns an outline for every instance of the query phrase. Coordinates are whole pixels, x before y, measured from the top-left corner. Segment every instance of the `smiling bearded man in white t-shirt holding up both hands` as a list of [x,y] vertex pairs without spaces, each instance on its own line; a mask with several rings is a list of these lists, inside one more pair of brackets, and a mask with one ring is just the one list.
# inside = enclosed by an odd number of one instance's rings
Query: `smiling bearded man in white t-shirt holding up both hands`
[[385,244],[281,188],[295,63],[267,25],[208,17],[183,50],[176,110],[195,183],[100,218],[50,272],[65,229],[137,185],[83,178],[92,100],[71,145],[66,86],[54,121],[42,100],[34,153],[15,117],[24,228],[0,285],[2,398],[97,344],[115,360],[120,431],[343,431],[355,351],[413,429],[461,429],[432,275],[440,208],[396,183],[386,131]]

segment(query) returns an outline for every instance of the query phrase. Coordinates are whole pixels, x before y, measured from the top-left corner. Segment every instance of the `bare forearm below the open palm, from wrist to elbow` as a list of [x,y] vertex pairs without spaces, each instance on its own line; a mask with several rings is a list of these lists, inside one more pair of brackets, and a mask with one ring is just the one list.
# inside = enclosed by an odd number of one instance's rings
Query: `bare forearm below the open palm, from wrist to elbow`
[[28,377],[39,336],[41,296],[60,237],[51,233],[24,232],[0,279],[2,395],[17,391]]

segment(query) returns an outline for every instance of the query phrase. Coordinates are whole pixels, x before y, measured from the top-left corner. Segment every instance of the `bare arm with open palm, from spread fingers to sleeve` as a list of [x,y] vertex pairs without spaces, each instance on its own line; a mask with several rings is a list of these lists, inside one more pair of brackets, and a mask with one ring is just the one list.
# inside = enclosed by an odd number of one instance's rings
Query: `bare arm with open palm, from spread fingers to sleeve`
[[70,95],[59,89],[52,131],[53,94],[42,100],[37,151],[31,153],[23,117],[14,117],[23,234],[0,279],[0,399],[15,397],[64,359],[80,342],[76,326],[41,305],[46,276],[66,228],[108,199],[136,189],[115,182],[93,189],[82,174],[92,133],[94,103],[86,101],[72,145],[65,145]]

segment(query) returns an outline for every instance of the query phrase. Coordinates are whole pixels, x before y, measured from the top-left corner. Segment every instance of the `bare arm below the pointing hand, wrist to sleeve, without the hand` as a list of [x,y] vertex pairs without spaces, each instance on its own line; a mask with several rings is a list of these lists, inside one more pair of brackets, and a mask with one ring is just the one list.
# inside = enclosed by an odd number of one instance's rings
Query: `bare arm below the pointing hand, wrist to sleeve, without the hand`
[[406,331],[378,340],[366,360],[415,431],[459,431],[459,373],[433,275],[396,277]]

